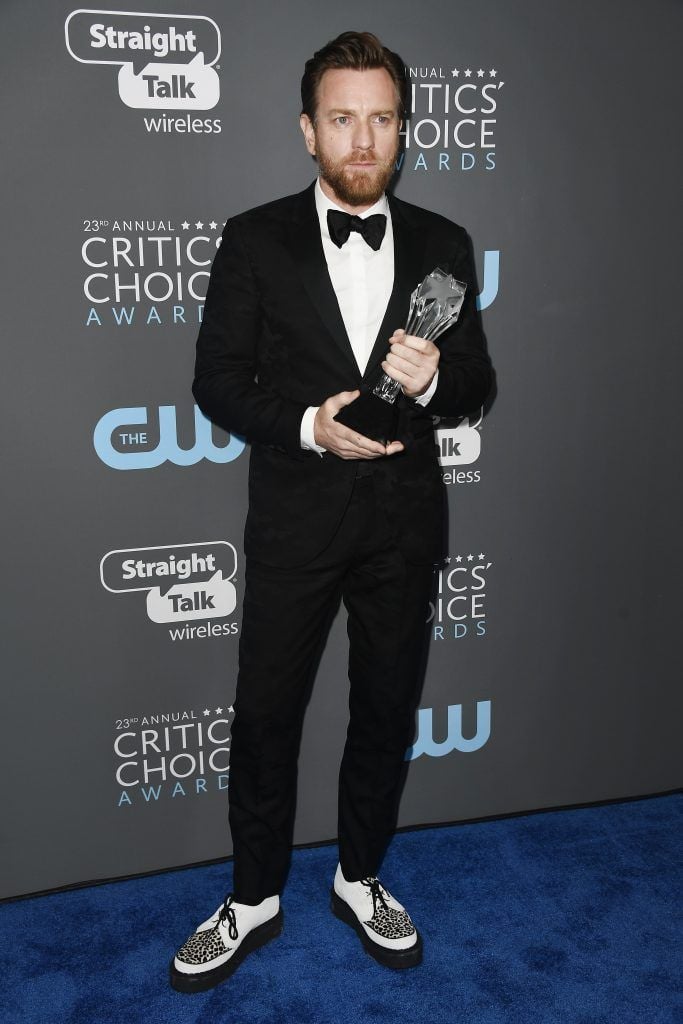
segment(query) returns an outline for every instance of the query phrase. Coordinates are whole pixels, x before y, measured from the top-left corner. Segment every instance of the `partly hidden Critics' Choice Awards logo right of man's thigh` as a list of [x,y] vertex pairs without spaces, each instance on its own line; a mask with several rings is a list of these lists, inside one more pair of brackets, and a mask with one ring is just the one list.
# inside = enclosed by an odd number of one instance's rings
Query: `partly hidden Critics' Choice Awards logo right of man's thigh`
[[436,570],[436,596],[427,622],[433,640],[486,635],[486,585],[493,562],[478,555],[449,555]]

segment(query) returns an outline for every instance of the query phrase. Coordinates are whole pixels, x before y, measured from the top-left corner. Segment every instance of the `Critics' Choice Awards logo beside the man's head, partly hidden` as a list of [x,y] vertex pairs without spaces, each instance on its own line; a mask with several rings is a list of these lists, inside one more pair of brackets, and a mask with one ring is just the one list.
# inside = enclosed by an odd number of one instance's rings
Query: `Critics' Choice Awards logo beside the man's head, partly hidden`
[[410,117],[398,167],[409,171],[496,169],[502,81],[488,66],[405,69]]

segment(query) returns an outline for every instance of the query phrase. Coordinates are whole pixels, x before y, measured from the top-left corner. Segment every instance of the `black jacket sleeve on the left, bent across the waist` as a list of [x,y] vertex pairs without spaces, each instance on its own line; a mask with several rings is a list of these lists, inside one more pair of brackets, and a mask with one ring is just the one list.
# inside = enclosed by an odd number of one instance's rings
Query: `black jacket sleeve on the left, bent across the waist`
[[193,394],[218,426],[250,441],[301,455],[306,407],[258,383],[262,306],[242,227],[228,220],[211,268],[197,340]]

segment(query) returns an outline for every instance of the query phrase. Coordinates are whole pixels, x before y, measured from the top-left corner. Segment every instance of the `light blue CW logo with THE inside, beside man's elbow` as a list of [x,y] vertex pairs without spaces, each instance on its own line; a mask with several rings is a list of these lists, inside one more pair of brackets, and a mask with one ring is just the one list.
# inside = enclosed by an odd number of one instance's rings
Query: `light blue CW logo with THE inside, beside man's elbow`
[[[164,462],[176,466],[194,466],[207,459],[209,462],[232,462],[245,450],[241,437],[230,435],[227,443],[218,445],[211,435],[211,422],[195,407],[195,444],[181,449],[175,421],[174,406],[159,407],[159,443],[144,452],[121,452],[112,443],[116,431],[119,441],[126,449],[134,449],[147,443],[147,433],[139,427],[146,426],[147,411],[144,406],[132,409],[113,409],[105,413],[95,427],[93,443],[95,452],[112,469],[154,469]],[[137,429],[134,429],[137,428]]]

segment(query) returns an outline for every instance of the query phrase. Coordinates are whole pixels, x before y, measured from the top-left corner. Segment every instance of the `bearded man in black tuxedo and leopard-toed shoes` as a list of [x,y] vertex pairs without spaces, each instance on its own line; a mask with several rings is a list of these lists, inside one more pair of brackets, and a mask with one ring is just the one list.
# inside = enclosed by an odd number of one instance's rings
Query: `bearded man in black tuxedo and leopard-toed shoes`
[[[350,719],[332,909],[380,964],[422,957],[411,918],[377,872],[395,826],[443,553],[431,417],[478,409],[490,367],[465,232],[385,194],[405,89],[400,58],[369,33],[344,33],[315,53],[300,124],[319,177],[229,220],[214,260],[194,393],[252,445],[230,754],[234,891],[176,954],[171,981],[181,991],[222,981],[282,930],[305,700],[340,595]],[[439,348],[397,330],[436,266],[467,285]],[[402,390],[387,444],[335,420],[380,368]]]

